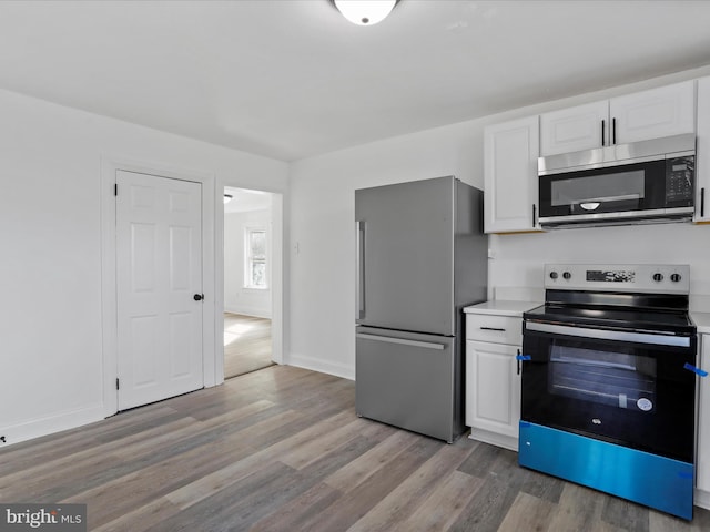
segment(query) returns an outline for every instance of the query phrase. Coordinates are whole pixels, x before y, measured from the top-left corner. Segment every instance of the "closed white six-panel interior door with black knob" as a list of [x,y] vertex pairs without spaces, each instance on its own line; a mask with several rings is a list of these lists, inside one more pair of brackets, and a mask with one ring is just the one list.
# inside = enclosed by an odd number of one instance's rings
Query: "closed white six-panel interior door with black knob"
[[202,185],[116,172],[118,408],[204,386]]

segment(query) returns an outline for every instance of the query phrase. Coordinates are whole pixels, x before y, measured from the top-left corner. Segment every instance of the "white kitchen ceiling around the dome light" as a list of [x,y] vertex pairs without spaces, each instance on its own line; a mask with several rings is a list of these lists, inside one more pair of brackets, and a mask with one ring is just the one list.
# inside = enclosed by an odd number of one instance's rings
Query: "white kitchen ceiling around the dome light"
[[0,88],[293,161],[710,64],[710,1],[1,1]]

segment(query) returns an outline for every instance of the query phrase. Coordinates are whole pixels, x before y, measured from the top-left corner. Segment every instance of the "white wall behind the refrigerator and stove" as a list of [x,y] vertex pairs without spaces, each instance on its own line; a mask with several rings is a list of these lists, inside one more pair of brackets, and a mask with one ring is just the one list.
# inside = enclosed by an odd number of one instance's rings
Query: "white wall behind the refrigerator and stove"
[[[354,378],[356,188],[450,174],[483,188],[486,125],[709,74],[707,66],[293,163],[288,361]],[[690,263],[692,289],[710,294],[706,242],[710,226],[691,225],[494,235],[489,286],[541,293],[542,264],[558,259],[668,262]]]

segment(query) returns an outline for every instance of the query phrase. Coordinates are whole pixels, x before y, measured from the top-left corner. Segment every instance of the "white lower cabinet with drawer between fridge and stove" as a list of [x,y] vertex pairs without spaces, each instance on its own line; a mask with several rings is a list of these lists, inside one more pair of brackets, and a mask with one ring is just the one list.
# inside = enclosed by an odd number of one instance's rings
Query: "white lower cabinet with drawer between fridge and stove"
[[514,451],[518,450],[520,419],[516,356],[521,328],[519,317],[485,315],[469,315],[466,326],[466,426],[470,438]]

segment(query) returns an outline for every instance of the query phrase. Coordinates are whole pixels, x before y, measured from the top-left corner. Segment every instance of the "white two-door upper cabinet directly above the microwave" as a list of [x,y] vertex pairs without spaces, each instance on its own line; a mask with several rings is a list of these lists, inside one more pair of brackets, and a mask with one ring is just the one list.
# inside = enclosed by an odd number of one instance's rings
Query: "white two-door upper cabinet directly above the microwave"
[[694,133],[694,83],[686,81],[545,113],[540,116],[540,154]]

